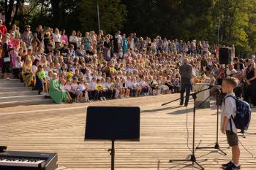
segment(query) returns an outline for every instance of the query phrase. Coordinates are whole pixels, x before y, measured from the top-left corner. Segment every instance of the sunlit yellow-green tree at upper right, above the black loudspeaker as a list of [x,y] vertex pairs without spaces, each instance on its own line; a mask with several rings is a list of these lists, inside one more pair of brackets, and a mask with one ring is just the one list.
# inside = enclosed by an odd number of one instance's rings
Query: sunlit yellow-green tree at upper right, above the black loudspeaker
[[220,42],[223,45],[235,45],[239,54],[250,51],[246,33],[250,6],[250,0],[218,0],[213,8],[213,18],[220,20]]

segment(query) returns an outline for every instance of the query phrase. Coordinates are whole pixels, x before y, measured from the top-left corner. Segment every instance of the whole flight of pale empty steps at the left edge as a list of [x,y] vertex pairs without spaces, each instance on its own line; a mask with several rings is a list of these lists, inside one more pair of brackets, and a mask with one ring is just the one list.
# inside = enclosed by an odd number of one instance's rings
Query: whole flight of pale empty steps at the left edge
[[18,79],[0,79],[0,108],[37,104],[53,104],[53,100],[38,95],[38,91],[31,87],[24,87]]

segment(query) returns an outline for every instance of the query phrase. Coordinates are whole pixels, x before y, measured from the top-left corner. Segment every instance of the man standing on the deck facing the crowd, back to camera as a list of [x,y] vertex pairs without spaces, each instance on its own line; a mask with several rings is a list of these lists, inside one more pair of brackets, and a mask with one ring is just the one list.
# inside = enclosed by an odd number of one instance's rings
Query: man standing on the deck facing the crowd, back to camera
[[191,90],[192,66],[188,63],[187,58],[184,58],[183,65],[180,66],[181,74],[181,103],[184,103],[184,92],[186,91],[185,107],[189,104],[189,94]]

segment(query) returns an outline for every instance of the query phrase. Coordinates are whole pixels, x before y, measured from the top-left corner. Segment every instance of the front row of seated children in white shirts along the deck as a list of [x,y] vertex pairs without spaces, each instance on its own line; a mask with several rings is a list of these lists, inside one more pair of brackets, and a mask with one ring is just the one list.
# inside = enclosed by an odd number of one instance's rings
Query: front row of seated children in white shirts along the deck
[[107,99],[129,98],[138,96],[152,96],[158,94],[172,93],[178,88],[173,83],[167,82],[161,84],[161,81],[152,80],[151,77],[130,77],[127,79],[116,77],[106,77],[91,80],[86,77],[73,77],[72,80],[61,79],[60,86],[62,90],[67,90],[69,96],[77,102],[103,101]]

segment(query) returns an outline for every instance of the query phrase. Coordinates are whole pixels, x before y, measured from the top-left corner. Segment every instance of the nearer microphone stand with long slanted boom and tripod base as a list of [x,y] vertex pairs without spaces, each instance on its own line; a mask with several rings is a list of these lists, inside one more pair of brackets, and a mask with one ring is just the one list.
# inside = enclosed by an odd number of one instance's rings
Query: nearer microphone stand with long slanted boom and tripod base
[[[194,107],[193,107],[193,147],[192,147],[192,155],[190,155],[190,159],[183,159],[183,160],[170,160],[169,162],[183,162],[183,161],[191,161],[192,162],[192,165],[194,166],[194,163],[197,164],[197,166],[200,167],[200,169],[204,170],[203,166],[201,166],[199,163],[197,163],[197,158],[195,157],[195,99],[197,98],[197,94],[198,93],[201,93],[203,91],[206,91],[210,88],[206,88],[204,90],[200,90],[200,91],[197,91],[195,93],[192,93],[192,94],[189,94],[189,96],[192,96],[192,98],[194,99]],[[184,96],[185,98],[186,96]],[[180,100],[180,98],[174,100],[174,101],[178,101]],[[173,101],[169,101],[165,104],[162,104],[162,106],[165,106],[166,104],[170,104],[172,103]],[[202,161],[207,161],[207,159],[204,159]]]

